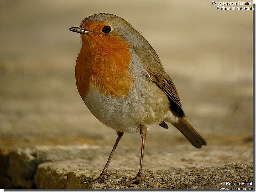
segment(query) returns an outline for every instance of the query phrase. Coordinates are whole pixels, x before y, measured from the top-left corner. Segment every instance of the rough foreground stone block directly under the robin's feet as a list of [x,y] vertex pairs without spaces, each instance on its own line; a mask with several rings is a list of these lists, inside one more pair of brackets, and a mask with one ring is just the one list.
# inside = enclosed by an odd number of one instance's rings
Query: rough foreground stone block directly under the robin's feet
[[[118,181],[127,180],[137,174],[137,170],[109,171],[118,176],[93,185],[81,184],[82,181],[90,181],[100,175],[100,170],[87,170],[83,160],[43,163],[36,173],[37,188],[215,188],[223,187],[221,182],[252,182],[252,165],[231,163],[222,166],[204,168],[184,168],[168,170],[144,170],[144,178],[140,184],[122,186]],[[70,166],[70,165],[74,166]],[[80,165],[80,166],[79,166]],[[245,187],[243,185],[239,187]],[[252,186],[247,186],[252,187]]]

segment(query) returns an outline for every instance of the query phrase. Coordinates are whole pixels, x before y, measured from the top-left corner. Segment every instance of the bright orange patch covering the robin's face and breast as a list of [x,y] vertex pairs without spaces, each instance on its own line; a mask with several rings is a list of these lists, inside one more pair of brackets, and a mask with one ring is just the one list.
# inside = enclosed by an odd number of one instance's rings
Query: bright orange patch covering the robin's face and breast
[[102,27],[107,24],[88,21],[82,25],[90,32],[82,35],[82,48],[76,60],[79,94],[86,96],[92,83],[106,95],[127,95],[132,83],[127,74],[131,61],[130,45],[112,32],[102,33]]

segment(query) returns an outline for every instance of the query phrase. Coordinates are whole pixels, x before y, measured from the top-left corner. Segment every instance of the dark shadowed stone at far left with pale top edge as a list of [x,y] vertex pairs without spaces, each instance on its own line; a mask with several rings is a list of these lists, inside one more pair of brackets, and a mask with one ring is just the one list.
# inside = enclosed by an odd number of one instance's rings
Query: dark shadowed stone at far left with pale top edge
[[[85,157],[86,154],[97,148],[86,144],[81,146],[35,146],[19,148],[7,156],[2,154],[2,158],[5,161],[6,177],[11,179],[14,187],[33,188],[34,174],[40,163],[67,160],[75,156]],[[4,159],[4,157],[6,158]]]

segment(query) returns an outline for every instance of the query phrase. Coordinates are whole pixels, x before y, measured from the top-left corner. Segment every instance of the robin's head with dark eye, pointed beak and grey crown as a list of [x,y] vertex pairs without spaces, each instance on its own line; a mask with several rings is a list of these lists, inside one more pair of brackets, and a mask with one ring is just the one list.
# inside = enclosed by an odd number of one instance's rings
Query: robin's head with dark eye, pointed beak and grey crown
[[85,18],[70,31],[82,37],[83,46],[119,49],[138,43],[141,35],[123,18],[109,13],[98,13]]

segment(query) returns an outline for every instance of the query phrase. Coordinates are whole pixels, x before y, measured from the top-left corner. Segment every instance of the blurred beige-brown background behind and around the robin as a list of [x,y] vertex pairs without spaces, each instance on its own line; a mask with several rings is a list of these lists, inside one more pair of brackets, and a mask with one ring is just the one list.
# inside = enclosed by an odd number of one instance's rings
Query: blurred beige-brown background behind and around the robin
[[[146,167],[150,150],[157,157],[177,149],[180,159],[209,154],[193,166],[252,162],[252,11],[216,11],[211,1],[1,1],[2,151],[83,143],[111,148],[115,131],[90,113],[76,89],[81,40],[68,30],[100,12],[142,32],[174,81],[187,120],[208,142],[197,150],[171,124],[152,127]],[[124,134],[120,147],[139,158],[140,134]]]

